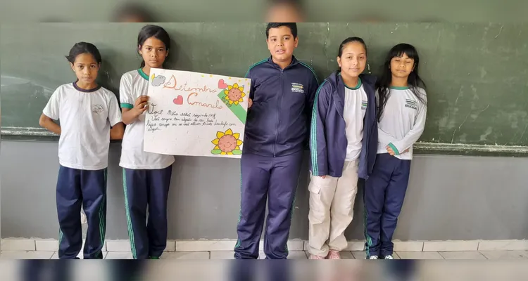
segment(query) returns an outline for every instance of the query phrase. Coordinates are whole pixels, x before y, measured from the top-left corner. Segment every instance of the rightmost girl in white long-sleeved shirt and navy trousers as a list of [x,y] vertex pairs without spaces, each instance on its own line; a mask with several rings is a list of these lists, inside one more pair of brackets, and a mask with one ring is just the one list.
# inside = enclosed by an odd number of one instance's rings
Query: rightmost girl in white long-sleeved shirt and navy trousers
[[365,187],[365,238],[368,259],[393,259],[392,235],[409,181],[413,144],[422,135],[427,113],[424,83],[418,76],[415,47],[398,44],[387,54],[377,82],[379,145]]

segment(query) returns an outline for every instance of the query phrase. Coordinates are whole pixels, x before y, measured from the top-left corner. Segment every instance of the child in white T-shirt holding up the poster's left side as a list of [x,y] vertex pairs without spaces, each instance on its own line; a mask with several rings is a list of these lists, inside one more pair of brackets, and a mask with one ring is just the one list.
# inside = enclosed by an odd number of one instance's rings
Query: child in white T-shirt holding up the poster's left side
[[[144,152],[145,111],[151,68],[163,68],[170,49],[169,34],[156,25],[143,27],[137,38],[141,68],[122,75],[122,140],[120,166],[128,235],[134,259],[159,259],[167,244],[167,197],[174,156]],[[146,222],[147,208],[149,221]]]

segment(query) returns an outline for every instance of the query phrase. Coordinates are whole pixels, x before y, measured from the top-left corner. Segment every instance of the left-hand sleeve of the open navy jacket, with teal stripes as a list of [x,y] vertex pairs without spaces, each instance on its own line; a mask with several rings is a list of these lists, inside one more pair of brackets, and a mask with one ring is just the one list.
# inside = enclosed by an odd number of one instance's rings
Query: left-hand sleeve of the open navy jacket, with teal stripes
[[313,176],[326,176],[328,174],[325,121],[331,93],[332,86],[327,81],[323,81],[315,93],[310,126],[310,170]]

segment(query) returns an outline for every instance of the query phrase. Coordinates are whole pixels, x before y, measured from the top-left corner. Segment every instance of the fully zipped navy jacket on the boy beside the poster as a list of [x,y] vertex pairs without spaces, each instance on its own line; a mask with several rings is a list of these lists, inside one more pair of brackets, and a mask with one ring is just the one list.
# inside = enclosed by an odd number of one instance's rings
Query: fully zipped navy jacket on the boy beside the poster
[[318,80],[308,65],[294,57],[284,70],[272,58],[251,66],[244,152],[281,157],[306,148],[308,126]]

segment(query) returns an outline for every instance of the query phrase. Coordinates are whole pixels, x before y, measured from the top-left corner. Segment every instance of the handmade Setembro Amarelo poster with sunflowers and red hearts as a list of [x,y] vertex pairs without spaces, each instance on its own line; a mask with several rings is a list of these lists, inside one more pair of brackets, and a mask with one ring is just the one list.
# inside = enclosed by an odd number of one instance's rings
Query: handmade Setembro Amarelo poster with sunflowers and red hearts
[[144,151],[240,158],[251,79],[152,69]]

